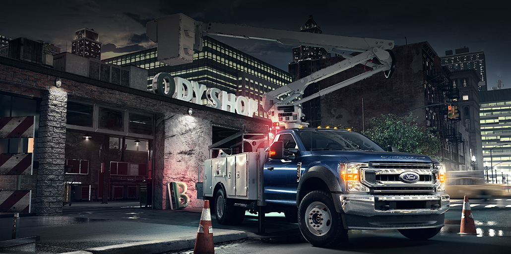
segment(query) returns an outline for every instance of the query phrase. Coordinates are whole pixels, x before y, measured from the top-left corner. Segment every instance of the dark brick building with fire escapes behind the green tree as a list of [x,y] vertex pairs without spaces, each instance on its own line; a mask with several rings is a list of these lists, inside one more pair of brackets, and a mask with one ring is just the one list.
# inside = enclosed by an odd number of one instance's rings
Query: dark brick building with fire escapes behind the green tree
[[[377,74],[321,97],[321,124],[363,131],[370,128],[371,118],[411,113],[419,125],[436,128],[443,142],[438,155],[444,158],[449,170],[458,170],[466,161],[462,143],[468,137],[460,134],[459,120],[447,119],[447,104],[457,105],[459,99],[450,71],[442,67],[428,42],[400,45],[392,51],[396,55],[396,69],[390,79]],[[340,60],[341,57],[323,59],[321,67]],[[364,66],[356,66],[318,82],[319,89],[362,72]]]

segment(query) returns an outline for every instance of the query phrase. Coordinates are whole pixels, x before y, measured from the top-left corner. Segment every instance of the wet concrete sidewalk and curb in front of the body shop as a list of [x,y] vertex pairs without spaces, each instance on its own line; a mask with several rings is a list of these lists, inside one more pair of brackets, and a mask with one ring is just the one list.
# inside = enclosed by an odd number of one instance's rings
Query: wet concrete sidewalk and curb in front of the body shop
[[[137,202],[76,202],[63,216],[20,217],[18,238],[36,244],[0,248],[0,253],[161,253],[195,245],[202,209],[151,210]],[[213,217],[214,218],[214,217]],[[213,219],[215,220],[215,219]],[[215,221],[216,222],[216,221]],[[11,239],[12,217],[0,217],[0,240]],[[215,243],[239,240],[245,232],[213,226]]]

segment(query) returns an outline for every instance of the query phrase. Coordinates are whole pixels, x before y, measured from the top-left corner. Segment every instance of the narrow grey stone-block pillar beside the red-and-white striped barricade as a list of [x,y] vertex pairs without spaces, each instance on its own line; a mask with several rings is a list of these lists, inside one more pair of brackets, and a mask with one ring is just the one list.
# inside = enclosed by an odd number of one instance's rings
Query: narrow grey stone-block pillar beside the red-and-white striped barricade
[[34,210],[38,216],[62,215],[67,94],[52,87],[45,91],[37,138],[37,190]]

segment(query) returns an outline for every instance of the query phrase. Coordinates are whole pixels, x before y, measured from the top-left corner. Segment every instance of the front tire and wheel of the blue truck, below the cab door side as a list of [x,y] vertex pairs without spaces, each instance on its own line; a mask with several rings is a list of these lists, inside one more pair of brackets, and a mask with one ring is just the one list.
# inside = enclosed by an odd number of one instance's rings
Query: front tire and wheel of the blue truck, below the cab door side
[[301,200],[298,227],[308,242],[319,247],[339,245],[347,234],[332,195],[326,191],[312,191]]

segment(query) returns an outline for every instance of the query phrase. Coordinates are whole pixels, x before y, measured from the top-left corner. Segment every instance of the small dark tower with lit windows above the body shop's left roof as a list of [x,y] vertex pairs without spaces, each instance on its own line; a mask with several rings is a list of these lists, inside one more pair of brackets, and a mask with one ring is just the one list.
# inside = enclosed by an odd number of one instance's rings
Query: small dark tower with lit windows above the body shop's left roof
[[94,29],[82,28],[75,31],[75,39],[71,41],[71,53],[86,58],[101,59],[101,42],[99,33]]

